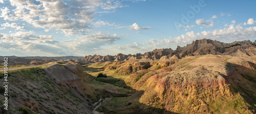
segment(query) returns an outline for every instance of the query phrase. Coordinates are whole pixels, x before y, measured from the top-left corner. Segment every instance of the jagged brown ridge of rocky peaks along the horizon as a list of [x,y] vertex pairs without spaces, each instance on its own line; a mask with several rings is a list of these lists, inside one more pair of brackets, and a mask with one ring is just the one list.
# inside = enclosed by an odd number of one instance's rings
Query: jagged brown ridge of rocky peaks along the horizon
[[155,49],[144,54],[122,54],[119,53],[113,55],[88,55],[80,59],[83,62],[106,62],[106,61],[127,61],[136,59],[148,59],[148,60],[166,60],[170,58],[181,59],[185,56],[205,55],[205,54],[217,54],[217,55],[230,55],[230,56],[253,56],[256,55],[256,40],[251,42],[250,40],[235,41],[232,43],[223,43],[220,41],[214,41],[210,39],[202,39],[193,41],[191,44],[187,44],[184,47],[177,46],[176,50],[171,48]]

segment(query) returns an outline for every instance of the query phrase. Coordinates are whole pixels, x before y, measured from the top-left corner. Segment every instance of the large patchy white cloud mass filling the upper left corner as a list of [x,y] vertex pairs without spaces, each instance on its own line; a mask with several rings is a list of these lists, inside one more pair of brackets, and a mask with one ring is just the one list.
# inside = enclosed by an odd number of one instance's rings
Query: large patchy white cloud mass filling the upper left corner
[[112,0],[74,0],[72,2],[63,0],[6,1],[5,4],[10,4],[12,8],[2,7],[0,9],[0,17],[5,20],[26,21],[35,27],[63,31],[68,36],[92,30],[89,25],[94,21],[93,15],[97,8],[110,11],[124,7],[119,1]]

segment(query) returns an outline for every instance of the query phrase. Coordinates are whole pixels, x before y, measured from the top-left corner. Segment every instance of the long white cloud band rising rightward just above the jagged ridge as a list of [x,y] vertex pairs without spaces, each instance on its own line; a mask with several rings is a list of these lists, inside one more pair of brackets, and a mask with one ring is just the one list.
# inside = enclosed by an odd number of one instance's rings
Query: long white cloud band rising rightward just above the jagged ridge
[[[174,45],[185,45],[191,43],[198,39],[212,39],[224,42],[230,41],[241,41],[244,39],[250,39],[256,37],[256,26],[243,28],[240,24],[234,26],[230,24],[224,29],[215,29],[213,31],[202,31],[200,33],[195,33],[194,31],[187,32],[178,37],[167,38],[167,39],[151,39],[141,43],[140,45],[125,45],[121,48],[134,48],[136,50],[152,51],[155,48],[169,48],[175,49]],[[136,48],[135,48],[136,47]]]

